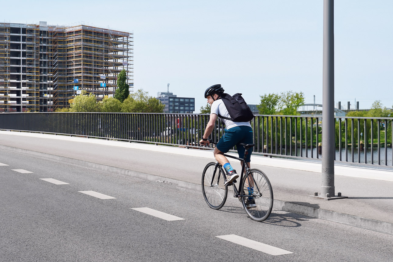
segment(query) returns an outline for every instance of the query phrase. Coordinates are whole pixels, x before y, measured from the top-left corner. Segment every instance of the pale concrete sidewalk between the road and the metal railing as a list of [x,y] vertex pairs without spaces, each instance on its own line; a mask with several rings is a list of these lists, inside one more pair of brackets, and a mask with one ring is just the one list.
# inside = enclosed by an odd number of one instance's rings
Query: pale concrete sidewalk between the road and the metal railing
[[[215,161],[211,150],[26,132],[0,131],[0,148],[196,191],[203,167]],[[321,192],[321,163],[260,156],[251,161],[272,183],[274,209],[393,235],[393,171],[336,165],[336,193],[349,198],[326,201],[310,197]]]

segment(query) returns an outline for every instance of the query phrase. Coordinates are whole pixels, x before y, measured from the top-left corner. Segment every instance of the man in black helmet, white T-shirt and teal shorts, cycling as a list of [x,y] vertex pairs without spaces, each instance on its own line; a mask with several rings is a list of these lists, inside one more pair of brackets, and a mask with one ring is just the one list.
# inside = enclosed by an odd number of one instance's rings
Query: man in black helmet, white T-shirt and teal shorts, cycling
[[[244,157],[244,147],[240,145],[240,143],[252,144],[253,143],[253,132],[250,122],[233,122],[230,119],[230,114],[226,109],[226,106],[222,99],[220,99],[222,93],[224,93],[224,89],[220,84],[215,84],[210,86],[205,91],[205,98],[208,99],[208,103],[210,104],[210,119],[208,124],[206,125],[204,135],[202,139],[199,141],[202,145],[209,145],[208,137],[214,129],[215,122],[217,117],[220,115],[224,118],[220,118],[225,125],[225,133],[220,138],[216,147],[214,148],[214,158],[217,162],[224,167],[227,173],[227,181],[224,185],[228,185],[233,182],[239,175],[236,173],[229,163],[228,159],[224,156],[224,153],[228,152],[231,148],[236,145],[237,153],[239,154],[239,158]],[[229,119],[226,119],[229,118]],[[252,148],[248,150],[248,156],[246,161],[248,166],[250,167],[250,157],[252,153]],[[243,164],[243,163],[241,163]]]

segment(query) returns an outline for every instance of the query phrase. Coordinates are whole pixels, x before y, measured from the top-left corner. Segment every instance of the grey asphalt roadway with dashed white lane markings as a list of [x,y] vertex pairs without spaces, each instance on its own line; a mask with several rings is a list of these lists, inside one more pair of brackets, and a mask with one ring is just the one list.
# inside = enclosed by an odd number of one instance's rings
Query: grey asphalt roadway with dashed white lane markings
[[[391,235],[283,211],[258,223],[234,198],[216,211],[195,191],[9,150],[0,152],[0,163],[6,164],[0,164],[0,261],[382,262],[393,257]],[[183,219],[167,221],[133,209],[143,207]],[[247,238],[263,251],[217,236]]]

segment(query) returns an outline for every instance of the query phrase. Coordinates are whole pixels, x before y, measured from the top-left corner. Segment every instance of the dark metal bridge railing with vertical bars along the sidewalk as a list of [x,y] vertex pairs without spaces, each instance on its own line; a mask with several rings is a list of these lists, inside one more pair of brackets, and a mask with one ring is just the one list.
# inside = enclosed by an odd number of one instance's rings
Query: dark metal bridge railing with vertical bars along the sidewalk
[[[335,160],[356,165],[393,167],[393,118],[335,117]],[[208,114],[154,113],[3,113],[0,130],[95,137],[130,142],[200,148]],[[253,154],[321,159],[322,117],[255,115]],[[211,138],[224,126],[216,122]],[[235,149],[235,148],[233,148]]]

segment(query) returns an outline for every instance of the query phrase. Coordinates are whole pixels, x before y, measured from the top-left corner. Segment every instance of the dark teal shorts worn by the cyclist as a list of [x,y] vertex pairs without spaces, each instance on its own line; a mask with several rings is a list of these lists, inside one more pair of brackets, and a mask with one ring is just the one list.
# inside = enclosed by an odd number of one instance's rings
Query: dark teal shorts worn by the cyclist
[[[244,147],[240,143],[252,144],[253,134],[250,126],[235,126],[230,129],[224,129],[225,133],[217,143],[217,149],[223,153],[228,152],[231,148],[236,146],[239,158],[244,157]],[[252,148],[248,149],[247,162],[250,162]]]

